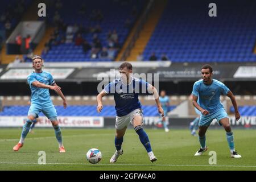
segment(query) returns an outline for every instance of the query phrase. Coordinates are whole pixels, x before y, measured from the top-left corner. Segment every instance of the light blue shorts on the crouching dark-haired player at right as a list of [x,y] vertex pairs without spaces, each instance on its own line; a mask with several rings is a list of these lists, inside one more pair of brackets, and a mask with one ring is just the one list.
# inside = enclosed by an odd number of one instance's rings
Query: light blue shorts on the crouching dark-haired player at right
[[220,108],[214,113],[210,113],[208,115],[201,114],[199,126],[209,126],[213,119],[217,119],[218,125],[221,125],[220,120],[223,118],[229,118],[224,108]]

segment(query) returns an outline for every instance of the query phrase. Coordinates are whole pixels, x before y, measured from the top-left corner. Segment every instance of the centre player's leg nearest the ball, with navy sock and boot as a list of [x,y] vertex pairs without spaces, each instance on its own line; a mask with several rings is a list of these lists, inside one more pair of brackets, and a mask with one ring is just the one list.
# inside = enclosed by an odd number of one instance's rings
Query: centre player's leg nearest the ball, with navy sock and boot
[[121,130],[115,129],[115,148],[117,150],[115,151],[115,154],[110,159],[110,163],[117,162],[118,157],[123,154],[122,143],[123,143],[123,136],[125,135],[126,129],[127,127],[124,127]]

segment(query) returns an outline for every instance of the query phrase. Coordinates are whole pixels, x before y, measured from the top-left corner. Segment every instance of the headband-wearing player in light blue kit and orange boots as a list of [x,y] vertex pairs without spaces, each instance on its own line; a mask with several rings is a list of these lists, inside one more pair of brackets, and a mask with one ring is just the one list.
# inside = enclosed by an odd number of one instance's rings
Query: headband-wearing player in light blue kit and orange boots
[[61,88],[53,80],[51,73],[42,70],[43,60],[40,56],[32,57],[32,67],[35,71],[27,77],[27,82],[31,89],[31,105],[28,110],[28,119],[23,126],[19,143],[13,147],[13,150],[18,151],[23,146],[24,139],[28,131],[30,131],[32,121],[39,117],[40,112],[43,112],[52,122],[55,136],[59,143],[59,152],[65,152],[59,122],[57,121],[57,112],[52,103],[49,89],[54,90],[63,99],[64,108],[67,107],[67,101],[61,92]]

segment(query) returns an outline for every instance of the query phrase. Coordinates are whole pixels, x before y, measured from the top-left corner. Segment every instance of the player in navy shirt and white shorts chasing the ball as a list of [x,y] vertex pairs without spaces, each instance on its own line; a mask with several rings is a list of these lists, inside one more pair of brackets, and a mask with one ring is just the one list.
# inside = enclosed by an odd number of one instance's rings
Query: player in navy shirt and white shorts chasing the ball
[[156,105],[158,106],[159,114],[164,116],[164,111],[159,101],[158,91],[154,86],[148,84],[148,82],[139,80],[131,76],[133,71],[133,66],[124,62],[119,67],[119,73],[121,74],[120,78],[115,79],[105,86],[97,96],[97,111],[101,112],[103,109],[102,97],[107,94],[113,94],[115,100],[115,110],[117,112],[117,117],[115,119],[115,148],[116,151],[110,163],[117,161],[118,157],[123,154],[122,143],[123,136],[129,123],[134,127],[135,132],[138,134],[141,143],[144,148],[146,148],[148,157],[151,162],[157,160],[156,156],[152,152],[150,140],[148,139],[147,133],[142,128],[143,123],[143,113],[141,102],[138,100],[138,95],[141,93],[150,93],[154,94]]

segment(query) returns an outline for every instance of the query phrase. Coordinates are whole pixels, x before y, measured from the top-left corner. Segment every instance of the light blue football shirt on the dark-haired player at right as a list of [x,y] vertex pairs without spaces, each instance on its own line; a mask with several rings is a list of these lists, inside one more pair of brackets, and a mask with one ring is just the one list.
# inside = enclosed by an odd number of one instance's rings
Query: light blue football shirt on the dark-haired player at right
[[226,95],[229,88],[222,82],[212,79],[212,84],[206,85],[203,80],[196,81],[193,85],[192,94],[199,98],[199,105],[203,109],[213,113],[220,108],[224,108],[220,101],[221,94]]

